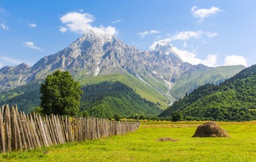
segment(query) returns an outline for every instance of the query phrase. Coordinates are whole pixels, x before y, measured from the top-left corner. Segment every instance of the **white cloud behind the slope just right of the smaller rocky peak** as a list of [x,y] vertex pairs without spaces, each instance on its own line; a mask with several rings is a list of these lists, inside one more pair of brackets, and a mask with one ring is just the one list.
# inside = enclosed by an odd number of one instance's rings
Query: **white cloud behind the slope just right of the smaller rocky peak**
[[215,67],[215,64],[217,62],[217,54],[215,55],[207,55],[207,59],[199,59],[197,58],[195,53],[186,51],[186,50],[180,50],[176,47],[173,47],[174,52],[185,62],[191,63],[193,65],[197,65],[199,63],[202,63],[203,65]]

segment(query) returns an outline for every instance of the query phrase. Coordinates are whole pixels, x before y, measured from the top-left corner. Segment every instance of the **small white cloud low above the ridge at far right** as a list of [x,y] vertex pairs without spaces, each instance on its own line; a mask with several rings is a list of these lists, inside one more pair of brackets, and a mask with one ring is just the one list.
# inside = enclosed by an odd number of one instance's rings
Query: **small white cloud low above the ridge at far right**
[[240,55],[227,55],[224,60],[224,65],[245,65],[247,66],[247,60]]

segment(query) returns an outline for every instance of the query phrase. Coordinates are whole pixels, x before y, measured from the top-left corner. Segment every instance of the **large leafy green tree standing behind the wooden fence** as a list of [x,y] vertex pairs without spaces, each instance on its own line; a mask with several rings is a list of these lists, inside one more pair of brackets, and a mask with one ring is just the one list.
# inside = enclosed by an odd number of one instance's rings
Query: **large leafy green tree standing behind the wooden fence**
[[75,82],[68,71],[57,70],[48,75],[40,87],[43,113],[76,115],[79,111],[80,94],[83,93],[80,88],[79,82]]

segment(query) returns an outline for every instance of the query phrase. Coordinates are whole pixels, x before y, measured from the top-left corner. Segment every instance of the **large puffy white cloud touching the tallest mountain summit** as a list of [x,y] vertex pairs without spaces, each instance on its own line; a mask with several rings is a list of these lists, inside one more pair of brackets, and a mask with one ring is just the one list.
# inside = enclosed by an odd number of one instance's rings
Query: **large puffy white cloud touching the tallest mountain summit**
[[113,35],[116,34],[116,28],[112,26],[92,26],[91,23],[95,20],[95,18],[88,13],[78,13],[78,12],[69,12],[66,15],[61,16],[61,23],[66,26],[61,26],[60,31],[66,32],[70,30],[72,32],[77,32],[79,34],[83,34],[88,32],[89,30],[93,30],[93,32],[101,35]]

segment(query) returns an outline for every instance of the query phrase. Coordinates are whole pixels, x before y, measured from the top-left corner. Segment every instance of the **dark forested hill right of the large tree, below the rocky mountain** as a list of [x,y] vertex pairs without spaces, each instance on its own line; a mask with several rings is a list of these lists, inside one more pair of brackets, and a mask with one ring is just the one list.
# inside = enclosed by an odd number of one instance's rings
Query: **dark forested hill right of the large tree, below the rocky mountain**
[[161,109],[141,98],[132,88],[122,82],[101,82],[82,88],[81,111],[87,111],[97,117],[108,117],[114,113],[120,115],[158,114]]

